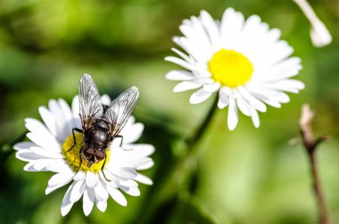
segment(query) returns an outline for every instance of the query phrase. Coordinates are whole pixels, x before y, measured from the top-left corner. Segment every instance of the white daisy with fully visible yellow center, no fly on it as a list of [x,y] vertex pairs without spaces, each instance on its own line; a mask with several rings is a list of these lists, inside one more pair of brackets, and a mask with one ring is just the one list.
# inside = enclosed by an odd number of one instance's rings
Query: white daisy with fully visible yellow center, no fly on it
[[190,98],[192,104],[219,92],[218,107],[228,106],[229,130],[236,128],[238,108],[259,127],[258,111],[266,112],[266,104],[280,108],[289,101],[285,92],[304,88],[302,82],[290,79],[302,69],[301,60],[289,57],[294,50],[279,40],[280,30],[269,29],[257,15],[244,20],[241,12],[228,8],[217,21],[202,11],[179,28],[184,36],[173,40],[186,53],[172,49],[179,58],[165,60],[185,70],[172,70],[166,78],[180,81],[174,92],[198,89]]

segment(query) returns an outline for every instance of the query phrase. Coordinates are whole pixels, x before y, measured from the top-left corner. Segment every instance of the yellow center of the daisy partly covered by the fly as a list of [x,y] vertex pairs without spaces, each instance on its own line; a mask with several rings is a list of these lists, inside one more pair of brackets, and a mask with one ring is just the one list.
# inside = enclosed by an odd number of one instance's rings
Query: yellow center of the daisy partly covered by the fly
[[[104,159],[98,163],[92,164],[91,167],[87,166],[86,159],[82,156],[81,166],[80,166],[80,154],[79,151],[81,148],[84,147],[84,140],[82,138],[81,133],[74,133],[75,140],[77,144],[73,146],[73,134],[70,134],[69,137],[63,142],[62,144],[62,154],[67,161],[67,163],[70,165],[70,167],[75,171],[83,171],[83,172],[100,172],[103,166]],[[71,149],[70,149],[71,148]],[[108,164],[110,160],[110,148],[107,148],[106,150],[106,163]]]

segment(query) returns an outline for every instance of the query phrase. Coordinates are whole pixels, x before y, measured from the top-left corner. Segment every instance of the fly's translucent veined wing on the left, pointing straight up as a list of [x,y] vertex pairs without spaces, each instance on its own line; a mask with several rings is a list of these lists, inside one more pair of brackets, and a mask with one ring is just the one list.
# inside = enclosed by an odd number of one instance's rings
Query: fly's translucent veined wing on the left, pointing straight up
[[92,77],[85,74],[79,81],[79,103],[82,128],[87,130],[103,115],[101,97]]

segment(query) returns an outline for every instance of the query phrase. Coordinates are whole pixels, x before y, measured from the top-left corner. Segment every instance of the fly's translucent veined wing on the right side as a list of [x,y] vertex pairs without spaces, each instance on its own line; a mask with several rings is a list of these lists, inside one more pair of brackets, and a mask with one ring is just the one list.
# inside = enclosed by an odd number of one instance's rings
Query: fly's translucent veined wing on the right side
[[110,108],[107,108],[105,115],[109,119],[111,137],[119,134],[121,129],[128,121],[128,117],[136,107],[136,101],[139,98],[139,91],[136,86],[130,87],[122,92],[119,97],[112,100]]

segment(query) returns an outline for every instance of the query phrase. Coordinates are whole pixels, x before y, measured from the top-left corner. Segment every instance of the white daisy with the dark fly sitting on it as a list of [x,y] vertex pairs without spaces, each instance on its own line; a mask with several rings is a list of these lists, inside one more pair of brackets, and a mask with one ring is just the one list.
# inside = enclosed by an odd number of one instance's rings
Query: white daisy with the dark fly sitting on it
[[[103,95],[102,101],[103,104],[111,102],[106,95]],[[71,108],[65,100],[49,100],[48,108],[40,107],[39,113],[45,124],[37,119],[25,119],[30,141],[15,144],[14,148],[18,150],[16,157],[29,162],[24,167],[25,171],[55,172],[48,180],[46,195],[70,183],[62,200],[62,216],[70,212],[72,205],[81,196],[83,211],[88,215],[94,204],[104,212],[110,196],[118,204],[126,206],[127,200],[121,191],[130,196],[139,196],[137,182],[153,184],[152,180],[138,171],[153,166],[149,156],[153,154],[154,148],[149,144],[134,144],[140,138],[144,125],[135,123],[133,116],[129,117],[120,132],[123,136],[121,147],[120,139],[117,139],[107,149],[106,163],[101,172],[103,161],[88,168],[86,160],[82,159],[79,167],[79,150],[83,146],[81,133],[75,132],[77,144],[69,150],[73,145],[72,128],[81,128],[78,96],[73,99]]]

